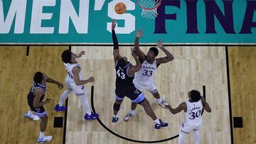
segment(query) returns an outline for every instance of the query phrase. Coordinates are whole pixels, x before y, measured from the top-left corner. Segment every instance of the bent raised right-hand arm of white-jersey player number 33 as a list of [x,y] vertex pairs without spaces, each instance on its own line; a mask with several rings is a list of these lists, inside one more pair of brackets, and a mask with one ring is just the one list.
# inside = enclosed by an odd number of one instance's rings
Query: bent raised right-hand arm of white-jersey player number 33
[[171,60],[174,60],[174,55],[171,55],[171,52],[169,52],[168,50],[166,50],[166,48],[164,48],[164,45],[161,42],[161,40],[157,42],[157,47],[163,50],[164,53],[166,54],[166,57],[160,57],[156,59],[157,67],[162,63],[166,63],[166,62],[170,62]]

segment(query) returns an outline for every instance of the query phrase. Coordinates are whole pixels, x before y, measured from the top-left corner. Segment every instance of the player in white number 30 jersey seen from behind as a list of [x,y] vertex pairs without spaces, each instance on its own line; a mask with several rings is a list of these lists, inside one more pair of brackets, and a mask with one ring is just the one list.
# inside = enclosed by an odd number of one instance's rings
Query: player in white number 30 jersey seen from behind
[[188,101],[181,103],[176,109],[172,109],[170,105],[166,106],[171,113],[176,114],[182,110],[185,112],[185,121],[183,121],[179,135],[178,143],[185,143],[185,135],[193,131],[194,143],[200,141],[199,128],[202,124],[202,112],[206,109],[210,113],[211,109],[206,99],[201,96],[200,92],[192,90],[188,92]]

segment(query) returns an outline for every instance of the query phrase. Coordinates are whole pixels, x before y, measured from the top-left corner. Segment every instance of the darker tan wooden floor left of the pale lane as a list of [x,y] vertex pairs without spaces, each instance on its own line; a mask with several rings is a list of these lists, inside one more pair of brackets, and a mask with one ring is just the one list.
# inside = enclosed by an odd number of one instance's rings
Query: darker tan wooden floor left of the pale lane
[[[65,69],[60,55],[65,49],[68,47],[31,47],[26,56],[26,47],[1,46],[0,143],[36,143],[40,121],[24,118],[29,108],[26,96],[33,84],[33,74],[37,71],[64,82]],[[63,143],[63,128],[53,128],[53,116],[64,116],[64,113],[53,110],[61,92],[54,84],[48,84],[46,98],[51,101],[45,106],[48,113],[46,135],[53,135],[51,143]]]

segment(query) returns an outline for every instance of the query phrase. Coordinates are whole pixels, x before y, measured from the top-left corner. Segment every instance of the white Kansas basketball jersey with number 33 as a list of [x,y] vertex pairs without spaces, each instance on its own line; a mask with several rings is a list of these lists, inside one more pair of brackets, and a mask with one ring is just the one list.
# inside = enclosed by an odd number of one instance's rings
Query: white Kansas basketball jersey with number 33
[[144,60],[142,63],[142,69],[136,72],[134,77],[134,83],[141,84],[154,84],[154,73],[156,72],[156,60],[152,64]]

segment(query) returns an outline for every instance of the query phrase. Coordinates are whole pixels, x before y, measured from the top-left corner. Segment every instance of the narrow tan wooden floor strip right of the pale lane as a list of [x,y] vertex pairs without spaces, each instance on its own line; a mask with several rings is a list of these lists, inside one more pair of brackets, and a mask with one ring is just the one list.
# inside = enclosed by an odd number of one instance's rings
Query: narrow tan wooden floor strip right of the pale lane
[[256,47],[228,48],[232,115],[243,128],[233,128],[234,143],[256,143]]

